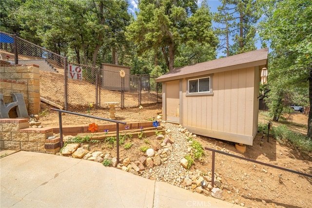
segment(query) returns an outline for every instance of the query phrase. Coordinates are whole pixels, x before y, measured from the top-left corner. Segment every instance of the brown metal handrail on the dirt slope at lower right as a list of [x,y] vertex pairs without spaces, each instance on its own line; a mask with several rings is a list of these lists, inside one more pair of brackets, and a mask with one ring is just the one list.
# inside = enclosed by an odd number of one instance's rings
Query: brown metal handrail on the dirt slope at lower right
[[214,187],[214,184],[215,184],[215,152],[220,153],[220,154],[224,154],[224,155],[228,155],[228,156],[231,156],[231,157],[234,157],[234,158],[247,160],[249,162],[257,163],[257,164],[260,164],[260,165],[263,165],[263,166],[269,166],[269,167],[273,167],[273,168],[276,168],[276,169],[285,170],[285,171],[288,171],[288,172],[292,172],[292,173],[295,173],[295,174],[299,174],[299,175],[303,175],[303,176],[307,176],[307,177],[312,178],[312,175],[307,174],[307,173],[298,172],[298,171],[295,171],[295,170],[292,170],[292,169],[287,169],[287,168],[280,167],[280,166],[273,166],[273,165],[268,164],[268,163],[263,163],[263,162],[260,162],[260,161],[252,160],[252,159],[249,159],[249,158],[241,157],[241,156],[230,154],[230,153],[227,153],[227,152],[222,152],[222,151],[219,151],[219,150],[216,150],[216,149],[212,149],[212,148],[208,148],[208,147],[205,147],[205,149],[210,150],[210,151],[213,152],[212,168],[211,168],[212,169],[212,174],[211,174],[211,186],[212,187]]

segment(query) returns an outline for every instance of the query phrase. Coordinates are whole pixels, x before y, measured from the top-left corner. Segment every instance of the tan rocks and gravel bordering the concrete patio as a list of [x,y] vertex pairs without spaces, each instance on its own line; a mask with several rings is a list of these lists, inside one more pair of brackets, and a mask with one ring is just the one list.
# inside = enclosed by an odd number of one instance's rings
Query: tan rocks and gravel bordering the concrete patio
[[159,146],[147,149],[145,156],[133,161],[130,158],[125,158],[117,163],[117,159],[109,153],[88,151],[87,145],[79,147],[80,145],[77,143],[67,144],[61,154],[72,154],[74,158],[83,158],[99,163],[104,160],[111,160],[112,166],[123,171],[151,180],[164,181],[177,187],[224,200],[222,179],[218,177],[217,173],[213,187],[211,185],[211,172],[203,173],[198,169],[194,171],[187,169],[188,161],[184,157],[192,154],[193,151],[190,146],[192,141],[188,141],[188,138],[195,139],[196,135],[180,125],[177,127],[165,122],[162,122],[162,125],[166,129],[166,135],[156,137],[159,140]]

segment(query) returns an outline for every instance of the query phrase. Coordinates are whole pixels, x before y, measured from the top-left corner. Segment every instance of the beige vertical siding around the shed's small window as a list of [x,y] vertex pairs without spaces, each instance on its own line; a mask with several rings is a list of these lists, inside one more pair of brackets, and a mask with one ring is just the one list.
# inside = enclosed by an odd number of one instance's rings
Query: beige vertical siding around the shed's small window
[[187,79],[183,79],[183,125],[201,131],[253,136],[257,127],[259,90],[254,86],[259,79],[255,74],[258,74],[255,67],[215,73],[211,76],[213,95],[203,96],[186,96]]

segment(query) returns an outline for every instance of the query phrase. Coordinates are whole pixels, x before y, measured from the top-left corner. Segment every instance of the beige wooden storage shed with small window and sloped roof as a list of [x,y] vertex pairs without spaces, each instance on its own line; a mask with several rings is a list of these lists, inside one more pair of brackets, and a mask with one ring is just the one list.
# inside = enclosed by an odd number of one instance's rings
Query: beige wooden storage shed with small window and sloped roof
[[253,145],[261,70],[267,62],[264,48],[178,67],[158,77],[163,120],[194,134]]

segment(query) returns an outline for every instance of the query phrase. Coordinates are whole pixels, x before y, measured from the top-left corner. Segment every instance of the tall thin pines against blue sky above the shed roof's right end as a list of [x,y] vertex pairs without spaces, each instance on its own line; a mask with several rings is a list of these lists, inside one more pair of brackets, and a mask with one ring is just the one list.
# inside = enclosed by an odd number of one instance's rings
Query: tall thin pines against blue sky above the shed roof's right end
[[[216,33],[221,36],[220,48],[227,56],[255,50],[255,23],[262,10],[257,0],[222,0],[214,20],[221,26]],[[230,41],[233,44],[229,44]]]

